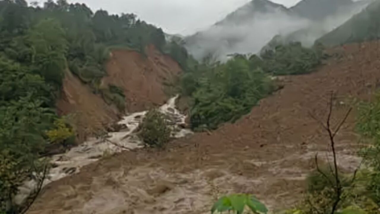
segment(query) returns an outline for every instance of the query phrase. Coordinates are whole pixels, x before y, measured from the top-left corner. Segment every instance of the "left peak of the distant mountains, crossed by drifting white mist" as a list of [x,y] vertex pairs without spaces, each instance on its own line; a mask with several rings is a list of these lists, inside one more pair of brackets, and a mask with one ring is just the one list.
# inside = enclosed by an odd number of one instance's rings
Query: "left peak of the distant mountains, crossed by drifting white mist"
[[209,29],[185,38],[185,46],[197,59],[214,54],[256,53],[274,35],[305,27],[306,20],[268,0],[252,0]]

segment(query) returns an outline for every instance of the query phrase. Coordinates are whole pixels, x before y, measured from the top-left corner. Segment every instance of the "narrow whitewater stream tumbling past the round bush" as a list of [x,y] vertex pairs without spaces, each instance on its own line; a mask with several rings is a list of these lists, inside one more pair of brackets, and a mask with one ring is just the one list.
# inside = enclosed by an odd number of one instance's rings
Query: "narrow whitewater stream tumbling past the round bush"
[[[176,100],[179,95],[172,97],[159,110],[168,118],[171,126],[171,137],[180,138],[192,134],[185,127],[186,116],[176,109]],[[134,150],[144,147],[144,142],[137,136],[136,130],[144,119],[147,111],[131,113],[118,122],[124,128],[119,132],[108,133],[104,137],[92,137],[88,141],[71,148],[65,153],[51,157],[53,166],[44,180],[43,185],[78,173],[83,166],[100,160],[101,158],[126,150]],[[29,179],[19,188],[15,196],[16,204],[22,204],[30,193],[36,188],[36,181]]]

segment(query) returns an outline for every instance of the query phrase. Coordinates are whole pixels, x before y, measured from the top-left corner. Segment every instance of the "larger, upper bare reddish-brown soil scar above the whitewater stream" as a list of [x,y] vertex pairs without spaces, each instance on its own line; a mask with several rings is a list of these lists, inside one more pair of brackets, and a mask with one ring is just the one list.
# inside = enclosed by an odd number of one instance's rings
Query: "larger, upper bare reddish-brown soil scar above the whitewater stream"
[[168,100],[165,85],[173,85],[181,69],[176,61],[147,47],[147,56],[136,51],[114,50],[107,64],[109,83],[124,89],[127,110],[138,112],[162,105]]

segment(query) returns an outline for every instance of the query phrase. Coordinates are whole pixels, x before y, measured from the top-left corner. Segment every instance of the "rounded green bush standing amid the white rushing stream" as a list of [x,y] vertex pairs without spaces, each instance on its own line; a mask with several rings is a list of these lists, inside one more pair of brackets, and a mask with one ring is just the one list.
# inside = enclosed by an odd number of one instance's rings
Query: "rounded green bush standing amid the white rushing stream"
[[145,144],[152,147],[163,147],[170,139],[171,128],[166,116],[157,109],[150,110],[139,126],[139,136]]

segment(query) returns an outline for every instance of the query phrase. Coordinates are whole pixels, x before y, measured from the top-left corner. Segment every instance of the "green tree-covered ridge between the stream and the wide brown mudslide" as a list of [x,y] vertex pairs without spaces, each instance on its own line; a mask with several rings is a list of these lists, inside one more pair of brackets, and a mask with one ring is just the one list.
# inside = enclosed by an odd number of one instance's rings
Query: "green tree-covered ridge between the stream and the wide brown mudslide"
[[181,89],[184,96],[191,97],[192,128],[216,129],[236,121],[277,89],[272,76],[310,73],[320,65],[322,56],[322,46],[273,43],[260,57],[235,54],[225,63],[206,58],[188,66]]

